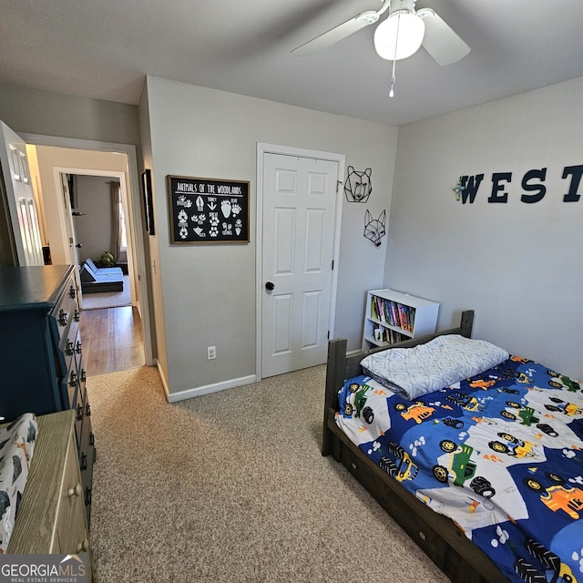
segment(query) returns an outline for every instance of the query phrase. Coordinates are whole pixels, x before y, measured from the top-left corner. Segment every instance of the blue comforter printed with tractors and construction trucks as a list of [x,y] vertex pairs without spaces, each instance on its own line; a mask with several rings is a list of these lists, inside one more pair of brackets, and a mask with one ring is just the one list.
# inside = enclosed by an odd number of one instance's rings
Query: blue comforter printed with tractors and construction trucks
[[516,582],[583,583],[583,392],[510,356],[414,400],[348,379],[336,423]]

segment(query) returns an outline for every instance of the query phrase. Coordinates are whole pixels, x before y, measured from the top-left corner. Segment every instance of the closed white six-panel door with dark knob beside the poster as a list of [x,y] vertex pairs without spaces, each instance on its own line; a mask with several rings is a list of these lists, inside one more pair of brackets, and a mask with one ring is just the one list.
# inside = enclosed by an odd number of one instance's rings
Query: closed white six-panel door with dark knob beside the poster
[[338,162],[263,155],[261,376],[324,363]]

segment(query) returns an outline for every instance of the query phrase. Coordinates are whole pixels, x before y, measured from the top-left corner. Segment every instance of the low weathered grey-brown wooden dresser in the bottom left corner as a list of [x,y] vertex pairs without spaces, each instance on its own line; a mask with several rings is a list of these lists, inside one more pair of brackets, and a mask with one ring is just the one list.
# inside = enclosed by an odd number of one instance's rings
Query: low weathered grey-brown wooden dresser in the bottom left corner
[[36,417],[38,435],[7,552],[87,553],[91,550],[75,435],[75,412]]

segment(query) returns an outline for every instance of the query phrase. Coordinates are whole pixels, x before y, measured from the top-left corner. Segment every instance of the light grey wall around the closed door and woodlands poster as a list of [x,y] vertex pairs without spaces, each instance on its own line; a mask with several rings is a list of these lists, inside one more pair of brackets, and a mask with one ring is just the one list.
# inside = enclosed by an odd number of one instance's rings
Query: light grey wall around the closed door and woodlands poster
[[[373,169],[368,204],[343,203],[335,334],[357,348],[364,292],[382,283],[386,250],[386,238],[380,248],[363,238],[364,210],[389,209],[397,129],[157,77],[147,91],[140,115],[149,117],[169,391],[255,373],[258,142],[341,153],[346,166]],[[170,246],[167,175],[250,180],[251,243]]]

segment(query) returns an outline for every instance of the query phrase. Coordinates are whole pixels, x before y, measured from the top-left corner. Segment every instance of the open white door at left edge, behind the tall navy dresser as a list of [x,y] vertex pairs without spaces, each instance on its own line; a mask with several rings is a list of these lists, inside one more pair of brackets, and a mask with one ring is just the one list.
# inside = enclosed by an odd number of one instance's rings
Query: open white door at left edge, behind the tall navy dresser
[[30,184],[26,142],[0,121],[0,163],[18,264],[44,265],[35,194]]

